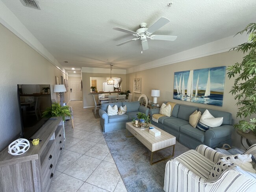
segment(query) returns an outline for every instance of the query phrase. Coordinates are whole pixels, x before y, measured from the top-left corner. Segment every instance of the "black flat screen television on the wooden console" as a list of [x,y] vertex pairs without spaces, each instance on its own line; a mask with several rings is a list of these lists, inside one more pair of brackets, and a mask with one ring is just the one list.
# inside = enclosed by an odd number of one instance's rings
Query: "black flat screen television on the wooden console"
[[[49,88],[49,89],[48,89]],[[42,117],[47,107],[52,107],[50,85],[18,85],[21,138],[30,139],[49,119]]]

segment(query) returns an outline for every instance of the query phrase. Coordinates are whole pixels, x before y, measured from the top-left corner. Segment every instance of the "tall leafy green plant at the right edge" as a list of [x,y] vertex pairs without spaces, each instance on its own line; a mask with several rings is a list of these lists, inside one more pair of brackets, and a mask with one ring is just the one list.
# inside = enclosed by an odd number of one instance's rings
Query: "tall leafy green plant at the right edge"
[[255,119],[251,119],[250,122],[244,120],[256,114],[256,23],[250,23],[237,34],[243,34],[244,32],[247,32],[247,35],[249,35],[248,42],[238,45],[231,50],[237,50],[244,54],[247,53],[247,55],[243,57],[241,63],[237,62],[232,66],[228,66],[227,74],[229,79],[236,77],[230,92],[232,95],[235,95],[235,100],[238,100],[236,105],[240,106],[236,117],[243,118],[243,120],[234,125],[234,128],[241,131],[250,129],[256,132]]

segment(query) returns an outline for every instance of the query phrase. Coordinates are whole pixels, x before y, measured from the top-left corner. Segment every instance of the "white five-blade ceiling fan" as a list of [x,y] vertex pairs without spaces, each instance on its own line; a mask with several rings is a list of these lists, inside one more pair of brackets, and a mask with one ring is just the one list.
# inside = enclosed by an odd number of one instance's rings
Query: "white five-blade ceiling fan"
[[113,30],[122,31],[124,33],[130,33],[136,37],[134,39],[130,39],[128,41],[121,42],[121,43],[117,44],[116,46],[120,46],[120,45],[126,44],[128,42],[136,41],[136,40],[140,39],[141,40],[141,53],[142,53],[144,50],[148,49],[147,38],[152,39],[152,40],[174,41],[177,38],[177,36],[152,35],[152,33],[154,33],[156,30],[160,29],[162,26],[164,26],[168,22],[170,22],[169,19],[167,19],[165,17],[161,17],[157,22],[155,22],[152,26],[150,26],[150,28],[146,28],[147,23],[141,23],[139,25],[141,28],[139,28],[136,32],[126,30],[123,28],[119,28],[119,27],[115,27],[115,28],[113,28]]

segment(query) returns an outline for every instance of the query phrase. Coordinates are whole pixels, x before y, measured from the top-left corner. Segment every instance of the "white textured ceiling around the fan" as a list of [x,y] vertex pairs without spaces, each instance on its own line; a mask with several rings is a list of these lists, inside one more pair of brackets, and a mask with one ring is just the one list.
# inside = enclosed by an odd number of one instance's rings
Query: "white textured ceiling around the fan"
[[[19,0],[2,0],[69,74],[74,67],[128,69],[167,57],[241,31],[255,20],[256,0],[38,0],[41,10]],[[176,35],[176,41],[148,40],[115,46],[134,36],[112,30],[136,31],[160,17],[171,20],[154,35]],[[64,63],[68,61],[69,63]]]

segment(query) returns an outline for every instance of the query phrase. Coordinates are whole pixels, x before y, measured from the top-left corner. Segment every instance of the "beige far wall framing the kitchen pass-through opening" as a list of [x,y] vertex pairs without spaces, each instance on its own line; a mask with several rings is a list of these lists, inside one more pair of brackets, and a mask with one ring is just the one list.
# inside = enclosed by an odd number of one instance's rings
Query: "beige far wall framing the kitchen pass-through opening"
[[[126,90],[126,75],[125,74],[113,74],[113,77],[123,78],[121,83],[121,91]],[[90,93],[90,77],[109,77],[109,74],[104,73],[82,73],[82,83],[83,83],[83,107],[94,107],[93,96]],[[95,95],[95,99],[98,100],[98,95]],[[96,101],[97,102],[97,101]]]

